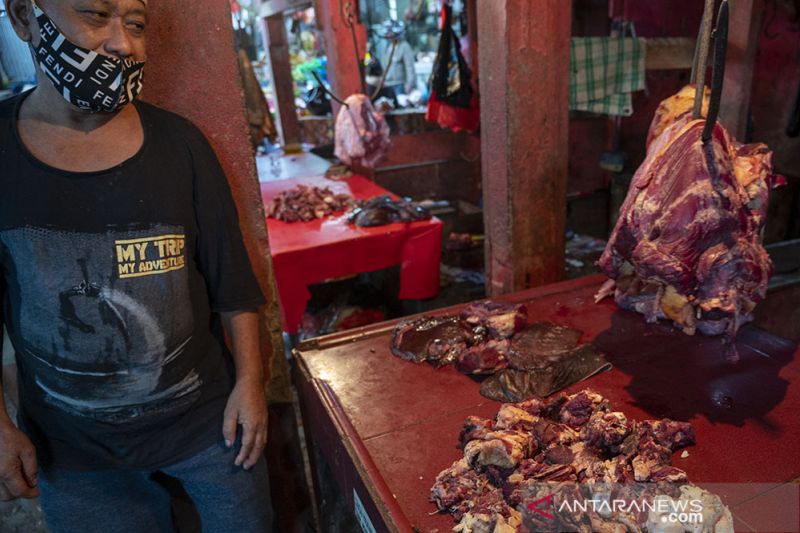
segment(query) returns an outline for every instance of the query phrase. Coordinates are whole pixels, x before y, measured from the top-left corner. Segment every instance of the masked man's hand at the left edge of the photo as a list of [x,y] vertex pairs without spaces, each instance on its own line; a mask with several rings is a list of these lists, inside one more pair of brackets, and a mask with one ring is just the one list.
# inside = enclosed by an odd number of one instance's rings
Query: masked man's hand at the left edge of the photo
[[0,422],[0,500],[36,498],[36,448],[6,419]]

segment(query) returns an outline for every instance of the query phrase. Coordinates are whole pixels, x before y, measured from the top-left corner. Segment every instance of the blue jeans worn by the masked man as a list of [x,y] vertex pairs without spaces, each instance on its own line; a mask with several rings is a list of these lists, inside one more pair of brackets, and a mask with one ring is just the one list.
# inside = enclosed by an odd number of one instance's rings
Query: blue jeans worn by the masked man
[[[181,482],[197,508],[204,532],[275,531],[267,463],[261,457],[250,470],[235,466],[238,448],[215,444],[160,471]],[[39,490],[48,530],[174,533],[170,496],[150,474],[142,470],[43,469]]]

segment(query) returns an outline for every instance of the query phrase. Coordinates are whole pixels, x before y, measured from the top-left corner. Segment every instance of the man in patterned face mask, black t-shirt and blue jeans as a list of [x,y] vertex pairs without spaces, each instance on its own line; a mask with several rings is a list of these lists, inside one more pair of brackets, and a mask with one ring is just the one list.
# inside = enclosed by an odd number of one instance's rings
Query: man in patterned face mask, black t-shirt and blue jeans
[[205,531],[267,531],[263,296],[205,138],[136,100],[147,0],[5,4],[39,83],[0,104],[0,498],[41,495],[56,532],[171,531],[161,471]]

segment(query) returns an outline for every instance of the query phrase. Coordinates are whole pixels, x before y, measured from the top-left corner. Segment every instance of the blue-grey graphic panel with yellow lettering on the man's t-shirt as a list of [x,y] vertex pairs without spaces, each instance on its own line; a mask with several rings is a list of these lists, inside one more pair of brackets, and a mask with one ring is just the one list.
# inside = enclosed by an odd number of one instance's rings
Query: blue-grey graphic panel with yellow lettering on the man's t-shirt
[[15,347],[44,401],[119,422],[199,395],[183,228],[0,231],[16,270]]

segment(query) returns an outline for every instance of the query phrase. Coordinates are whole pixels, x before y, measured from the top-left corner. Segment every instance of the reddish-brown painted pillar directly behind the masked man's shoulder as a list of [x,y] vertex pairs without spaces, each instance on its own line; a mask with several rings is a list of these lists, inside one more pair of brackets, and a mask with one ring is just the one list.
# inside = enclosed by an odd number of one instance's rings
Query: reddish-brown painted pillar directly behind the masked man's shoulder
[[253,269],[269,301],[261,321],[261,353],[268,371],[273,354],[283,355],[280,313],[229,4],[153,2],[148,18],[145,99],[194,122],[225,170]]

